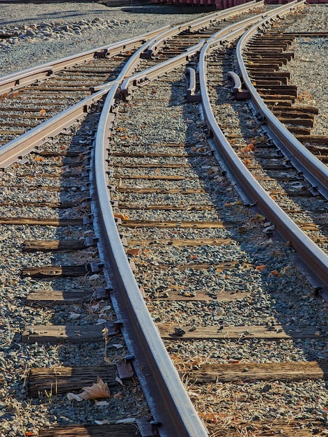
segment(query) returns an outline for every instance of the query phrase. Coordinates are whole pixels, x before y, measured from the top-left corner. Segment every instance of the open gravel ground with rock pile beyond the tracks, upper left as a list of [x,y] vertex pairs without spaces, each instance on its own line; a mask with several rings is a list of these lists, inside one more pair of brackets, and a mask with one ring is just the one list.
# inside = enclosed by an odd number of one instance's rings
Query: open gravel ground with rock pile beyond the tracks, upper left
[[145,34],[199,14],[127,13],[100,3],[1,4],[0,75]]

